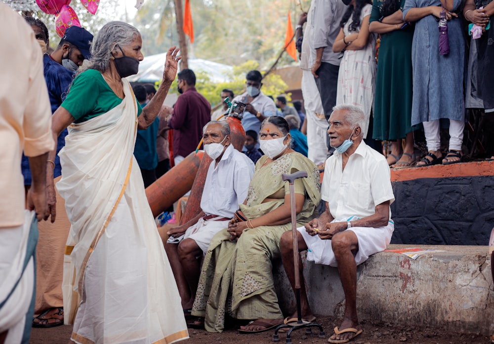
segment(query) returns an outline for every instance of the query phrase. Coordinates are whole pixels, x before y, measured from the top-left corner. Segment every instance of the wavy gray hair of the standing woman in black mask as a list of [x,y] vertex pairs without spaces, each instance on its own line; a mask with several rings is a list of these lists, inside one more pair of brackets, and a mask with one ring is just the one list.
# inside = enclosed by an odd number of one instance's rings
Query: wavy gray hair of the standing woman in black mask
[[92,41],[91,59],[79,68],[78,74],[87,69],[106,71],[110,66],[112,51],[116,50],[117,45],[120,47],[127,46],[139,35],[139,30],[130,24],[120,21],[106,23]]

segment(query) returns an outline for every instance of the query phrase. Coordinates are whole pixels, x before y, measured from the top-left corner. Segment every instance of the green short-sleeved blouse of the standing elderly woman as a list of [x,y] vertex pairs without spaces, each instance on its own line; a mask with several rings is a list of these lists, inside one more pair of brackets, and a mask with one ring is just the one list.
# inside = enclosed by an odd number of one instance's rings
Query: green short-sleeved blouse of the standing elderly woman
[[[74,123],[82,123],[107,113],[120,103],[122,99],[113,92],[101,72],[88,69],[76,76],[61,106],[76,119]],[[136,103],[139,116],[142,108]]]

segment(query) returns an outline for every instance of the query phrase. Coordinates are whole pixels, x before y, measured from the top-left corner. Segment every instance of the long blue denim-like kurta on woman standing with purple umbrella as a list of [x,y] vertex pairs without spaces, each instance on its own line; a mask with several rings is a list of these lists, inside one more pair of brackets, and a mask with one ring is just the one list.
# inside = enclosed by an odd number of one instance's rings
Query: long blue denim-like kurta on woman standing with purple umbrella
[[[453,11],[462,0],[453,0]],[[414,7],[441,6],[440,0],[407,0],[403,18]],[[465,114],[463,73],[465,41],[461,19],[448,21],[450,53],[439,55],[438,22],[428,15],[415,23],[412,43],[412,125],[439,118],[462,120]]]

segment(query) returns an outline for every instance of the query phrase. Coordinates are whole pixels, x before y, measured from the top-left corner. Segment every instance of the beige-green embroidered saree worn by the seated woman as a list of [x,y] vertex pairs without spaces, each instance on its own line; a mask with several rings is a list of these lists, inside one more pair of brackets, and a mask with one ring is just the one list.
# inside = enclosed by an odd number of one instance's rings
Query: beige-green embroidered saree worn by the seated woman
[[[266,156],[256,163],[247,193],[247,204],[240,205],[247,219],[255,219],[278,208],[282,198],[262,203],[277,191],[288,189],[282,174],[307,171],[308,177],[296,183],[295,193],[305,194],[297,226],[317,216],[315,209],[321,199],[319,170],[300,153],[285,154],[261,167]],[[285,192],[283,192],[285,193]],[[288,192],[287,192],[288,193]],[[211,240],[201,270],[192,314],[205,317],[209,332],[222,332],[225,315],[237,319],[280,319],[283,314],[274,289],[271,261],[280,258],[281,235],[291,223],[245,229],[237,242],[229,240],[226,229]]]

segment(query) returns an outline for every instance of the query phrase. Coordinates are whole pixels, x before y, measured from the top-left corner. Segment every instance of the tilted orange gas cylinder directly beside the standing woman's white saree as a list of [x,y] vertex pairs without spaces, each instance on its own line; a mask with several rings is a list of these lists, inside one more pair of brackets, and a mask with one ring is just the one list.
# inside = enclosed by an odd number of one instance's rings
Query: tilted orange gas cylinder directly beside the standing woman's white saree
[[160,215],[187,191],[191,190],[203,155],[211,160],[203,151],[199,151],[197,154],[192,152],[180,164],[146,188],[146,196],[154,217]]

